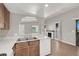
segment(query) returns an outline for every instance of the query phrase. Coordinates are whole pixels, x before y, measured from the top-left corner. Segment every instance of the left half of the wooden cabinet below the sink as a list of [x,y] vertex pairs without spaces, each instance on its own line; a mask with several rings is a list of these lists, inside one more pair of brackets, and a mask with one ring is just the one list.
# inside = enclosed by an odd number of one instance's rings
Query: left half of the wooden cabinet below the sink
[[15,55],[16,56],[28,56],[29,55],[28,42],[22,42],[22,43],[16,44]]

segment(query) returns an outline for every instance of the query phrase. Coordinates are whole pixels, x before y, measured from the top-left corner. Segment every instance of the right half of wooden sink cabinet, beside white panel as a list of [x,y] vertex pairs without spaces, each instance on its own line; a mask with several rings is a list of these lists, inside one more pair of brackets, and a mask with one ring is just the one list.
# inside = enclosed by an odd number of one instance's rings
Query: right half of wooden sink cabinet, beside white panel
[[29,45],[29,56],[39,55],[39,41],[31,41]]

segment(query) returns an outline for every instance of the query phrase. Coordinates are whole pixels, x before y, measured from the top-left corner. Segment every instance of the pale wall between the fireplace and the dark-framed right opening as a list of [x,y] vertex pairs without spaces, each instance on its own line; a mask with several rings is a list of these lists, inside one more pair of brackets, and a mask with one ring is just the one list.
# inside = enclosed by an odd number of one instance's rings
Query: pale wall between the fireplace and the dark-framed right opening
[[76,44],[76,36],[75,36],[75,20],[79,18],[79,8],[75,8],[66,13],[60,14],[54,18],[46,20],[46,24],[53,23],[54,21],[60,21],[62,25],[62,29],[60,30],[60,34],[62,35],[62,41],[75,45]]

